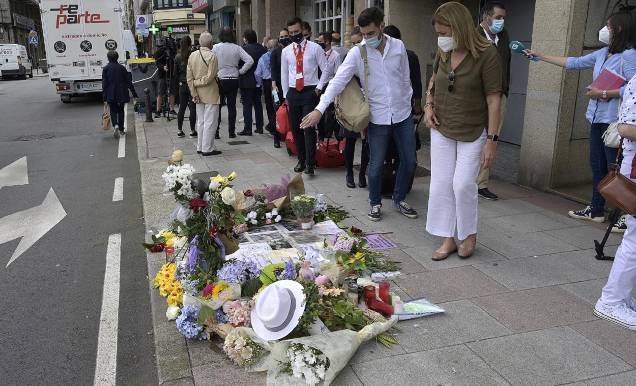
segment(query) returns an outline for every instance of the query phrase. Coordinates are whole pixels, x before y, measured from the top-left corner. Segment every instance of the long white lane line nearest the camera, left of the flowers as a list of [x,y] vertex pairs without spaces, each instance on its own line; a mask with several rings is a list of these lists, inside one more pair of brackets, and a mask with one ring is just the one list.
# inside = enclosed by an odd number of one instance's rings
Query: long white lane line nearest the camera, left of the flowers
[[93,386],[114,386],[117,370],[121,233],[108,237],[106,272],[102,293],[102,314],[97,339],[97,360]]

